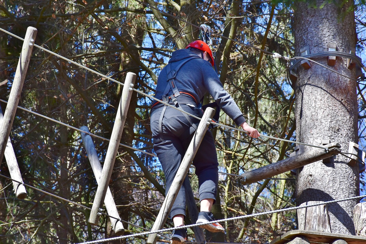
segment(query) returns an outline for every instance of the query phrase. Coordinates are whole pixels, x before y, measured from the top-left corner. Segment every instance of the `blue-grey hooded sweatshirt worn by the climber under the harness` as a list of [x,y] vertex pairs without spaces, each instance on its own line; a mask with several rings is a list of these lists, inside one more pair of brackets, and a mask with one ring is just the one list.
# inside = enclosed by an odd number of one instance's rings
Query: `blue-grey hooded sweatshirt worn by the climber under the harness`
[[[172,58],[169,60],[171,69],[174,70],[183,59],[193,56],[199,57],[189,49],[174,51],[172,53]],[[198,106],[199,101],[208,91],[217,104],[219,104],[220,108],[229,115],[237,125],[241,125],[246,121],[234,99],[224,90],[224,87],[210,62],[203,60],[201,57],[191,59],[180,67],[175,77],[175,84],[180,92],[180,96],[190,97],[194,105]],[[157,99],[161,99],[162,96],[165,95],[163,93],[167,86],[170,85],[167,81],[167,67],[164,67],[164,69],[161,70],[157,81],[155,94]],[[168,95],[172,95],[172,89],[169,90]],[[156,102],[153,104],[152,110],[162,106],[161,103]]]

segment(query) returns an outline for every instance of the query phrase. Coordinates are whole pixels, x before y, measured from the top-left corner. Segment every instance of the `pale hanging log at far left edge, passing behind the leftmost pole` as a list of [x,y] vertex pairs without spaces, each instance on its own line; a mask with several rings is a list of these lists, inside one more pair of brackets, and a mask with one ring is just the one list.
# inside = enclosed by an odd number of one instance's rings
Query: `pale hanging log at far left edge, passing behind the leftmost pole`
[[[3,118],[4,118],[3,111],[1,111],[1,108],[0,108],[0,125],[3,122]],[[4,155],[5,155],[6,163],[8,164],[9,173],[10,173],[11,178],[13,180],[23,182],[22,174],[20,174],[19,165],[18,165],[18,162],[16,161],[15,152],[13,149],[13,145],[11,144],[10,137],[8,137]],[[24,185],[13,181],[13,187],[14,187],[14,192],[16,194],[16,197],[18,197],[18,199],[25,199],[27,197],[27,191],[26,191]]]

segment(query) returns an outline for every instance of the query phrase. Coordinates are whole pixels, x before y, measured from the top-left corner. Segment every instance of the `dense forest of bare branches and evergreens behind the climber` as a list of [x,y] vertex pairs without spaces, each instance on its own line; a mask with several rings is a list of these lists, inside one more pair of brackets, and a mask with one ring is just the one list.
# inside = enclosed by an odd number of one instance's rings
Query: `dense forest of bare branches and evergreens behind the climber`
[[[340,1],[341,2],[341,1]],[[299,56],[294,50],[291,2],[145,0],[0,1],[0,27],[24,38],[36,27],[35,43],[114,80],[137,74],[135,89],[154,94],[157,76],[171,53],[197,40],[202,23],[212,30],[213,52],[220,80],[247,121],[262,134],[296,140],[294,90],[288,63],[268,52]],[[315,3],[309,1],[309,4]],[[324,4],[327,4],[325,1]],[[317,6],[316,4],[313,7]],[[366,7],[356,2],[356,55],[366,48]],[[341,21],[341,14],[339,21]],[[5,111],[23,41],[0,31],[0,106]],[[319,59],[321,60],[321,59]],[[325,58],[324,58],[325,60]],[[324,61],[323,60],[323,61]],[[365,81],[358,82],[359,141],[365,148]],[[19,106],[79,128],[89,127],[103,162],[122,86],[37,47],[33,48]],[[209,102],[205,97],[205,102]],[[149,108],[152,99],[134,92],[109,186],[125,234],[151,229],[164,200],[164,174],[152,156]],[[325,106],[331,106],[325,104]],[[220,123],[233,126],[221,114]],[[288,158],[296,144],[217,127],[219,171],[241,174]],[[72,202],[91,207],[96,179],[79,131],[18,109],[11,139],[23,180]],[[323,138],[319,138],[320,142]],[[348,148],[343,148],[348,151]],[[364,174],[361,192],[366,192]],[[9,177],[7,164],[1,175]],[[197,197],[197,178],[189,173]],[[27,188],[19,200],[12,182],[0,177],[1,243],[80,243],[114,236],[108,218],[97,226],[89,210]],[[217,219],[296,206],[295,176],[290,172],[243,186],[240,177],[220,174]],[[187,218],[187,223],[190,219]],[[139,227],[141,226],[141,227]],[[208,234],[208,241],[265,243],[296,229],[296,212],[283,212],[224,223],[225,234]],[[172,227],[168,221],[166,227]],[[168,235],[168,233],[165,233]],[[188,231],[193,239],[193,232]],[[144,243],[146,236],[109,243]],[[164,242],[164,240],[161,240]]]

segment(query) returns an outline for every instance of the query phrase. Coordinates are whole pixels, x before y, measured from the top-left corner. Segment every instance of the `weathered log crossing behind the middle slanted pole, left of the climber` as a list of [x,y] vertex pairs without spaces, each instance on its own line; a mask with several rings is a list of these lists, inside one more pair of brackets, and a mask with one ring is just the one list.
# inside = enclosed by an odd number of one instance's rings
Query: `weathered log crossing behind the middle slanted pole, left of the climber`
[[[94,147],[93,140],[91,139],[91,136],[89,136],[88,127],[81,126],[80,129],[85,132],[88,132],[88,133],[81,132],[81,138],[83,140],[83,144],[84,144],[86,153],[87,153],[89,161],[90,161],[91,169],[93,169],[94,176],[98,183],[99,179],[100,179],[100,175],[102,173],[102,165],[100,164],[97,150]],[[107,187],[107,192],[105,193],[104,205],[105,205],[105,208],[107,209],[108,215],[111,215],[117,219],[120,219],[116,204],[113,200],[112,192],[109,189],[109,187]],[[124,233],[123,224],[121,221],[118,221],[115,218],[110,218],[111,223],[112,223],[112,228],[113,228],[114,232],[116,233],[116,235],[122,236]]]

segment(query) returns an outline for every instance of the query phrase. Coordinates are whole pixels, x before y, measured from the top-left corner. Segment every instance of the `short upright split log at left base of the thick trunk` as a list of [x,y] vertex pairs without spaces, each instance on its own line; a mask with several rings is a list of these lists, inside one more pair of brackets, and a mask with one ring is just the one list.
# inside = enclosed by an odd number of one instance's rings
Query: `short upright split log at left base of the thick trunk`
[[[321,201],[310,201],[302,203],[300,206],[306,206],[315,203],[322,203]],[[298,215],[298,229],[332,233],[330,230],[330,218],[328,214],[328,207],[326,204],[300,208],[297,210]]]

